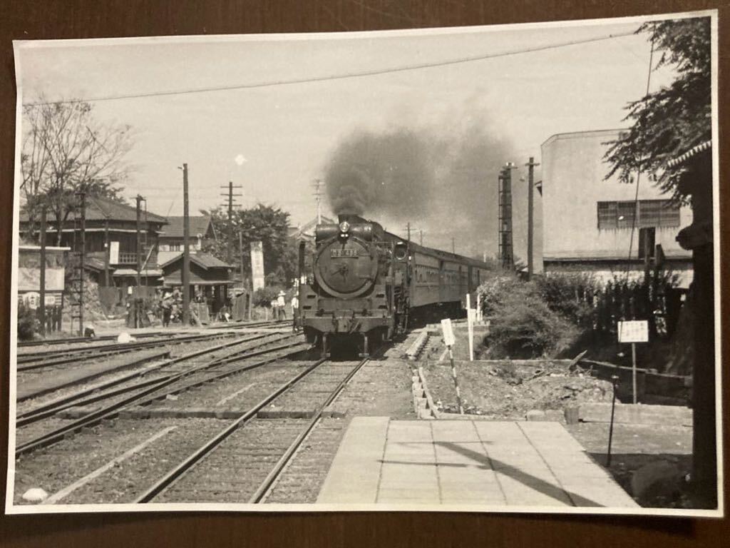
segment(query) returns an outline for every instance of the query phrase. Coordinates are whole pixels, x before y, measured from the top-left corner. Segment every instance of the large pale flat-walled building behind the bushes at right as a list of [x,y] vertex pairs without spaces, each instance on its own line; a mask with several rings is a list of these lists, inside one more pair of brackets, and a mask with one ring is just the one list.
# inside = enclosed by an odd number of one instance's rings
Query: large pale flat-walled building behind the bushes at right
[[607,281],[625,275],[627,265],[629,275],[642,275],[646,260],[661,246],[664,267],[679,276],[680,286],[688,287],[691,252],[676,238],[692,223],[691,208],[663,194],[648,174],[642,173],[638,199],[635,180],[606,178],[610,165],[604,155],[621,133],[561,133],[542,143],[543,241],[536,262],[545,273],[589,272]]

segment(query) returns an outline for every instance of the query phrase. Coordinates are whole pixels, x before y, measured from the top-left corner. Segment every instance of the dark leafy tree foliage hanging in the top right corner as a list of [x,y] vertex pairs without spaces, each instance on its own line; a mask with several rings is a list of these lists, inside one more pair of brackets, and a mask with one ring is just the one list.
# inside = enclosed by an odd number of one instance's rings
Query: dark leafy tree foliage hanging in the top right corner
[[680,186],[683,168],[666,164],[712,137],[710,18],[644,23],[637,32],[648,33],[661,53],[655,69],[673,66],[677,78],[627,105],[624,120],[633,123],[625,137],[610,143],[607,178],[616,173],[629,183],[637,172],[653,173],[662,190],[684,199],[691,188]]

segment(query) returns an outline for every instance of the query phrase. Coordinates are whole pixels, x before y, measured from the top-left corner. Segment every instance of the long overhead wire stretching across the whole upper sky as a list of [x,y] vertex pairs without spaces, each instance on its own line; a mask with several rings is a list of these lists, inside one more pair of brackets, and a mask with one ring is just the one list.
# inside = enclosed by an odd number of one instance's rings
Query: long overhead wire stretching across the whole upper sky
[[237,85],[221,85],[221,86],[211,86],[211,87],[207,87],[207,88],[193,88],[193,89],[182,89],[182,90],[173,90],[173,91],[153,91],[153,92],[145,93],[145,94],[120,94],[120,95],[110,95],[110,96],[88,97],[86,99],[69,99],[69,100],[65,100],[65,101],[39,101],[39,102],[23,103],[23,105],[26,107],[31,107],[31,106],[39,106],[42,104],[101,102],[101,101],[115,101],[117,99],[142,99],[144,97],[162,97],[162,96],[171,96],[171,95],[201,94],[201,93],[207,93],[207,92],[211,92],[211,91],[231,91],[231,90],[237,90],[237,89],[268,88],[268,87],[272,87],[275,85],[315,83],[315,82],[324,82],[327,80],[345,80],[346,78],[377,76],[377,75],[391,74],[394,72],[406,72],[406,71],[410,71],[410,70],[430,69],[430,68],[437,67],[437,66],[449,66],[449,65],[462,64],[462,63],[471,63],[473,61],[484,61],[485,59],[493,59],[493,58],[498,58],[498,57],[520,55],[521,53],[535,53],[535,52],[539,52],[539,51],[554,50],[558,47],[569,47],[569,46],[573,46],[573,45],[588,44],[591,42],[602,42],[604,40],[622,38],[622,37],[627,37],[627,36],[631,36],[634,34],[636,34],[634,31],[624,32],[624,33],[620,33],[620,34],[608,34],[607,36],[588,38],[588,39],[583,39],[583,40],[574,40],[572,42],[561,42],[558,44],[550,44],[550,45],[537,46],[537,47],[528,47],[523,50],[504,51],[501,53],[487,53],[487,54],[480,55],[480,56],[462,57],[462,58],[450,59],[447,61],[434,61],[431,63],[420,63],[420,64],[413,64],[413,65],[406,65],[406,66],[396,66],[391,69],[375,69],[375,70],[368,70],[368,71],[362,71],[362,72],[348,72],[348,73],[345,73],[342,75],[326,75],[326,76],[309,77],[309,78],[294,78],[292,80],[272,80],[270,82],[259,82],[259,83],[237,84]]

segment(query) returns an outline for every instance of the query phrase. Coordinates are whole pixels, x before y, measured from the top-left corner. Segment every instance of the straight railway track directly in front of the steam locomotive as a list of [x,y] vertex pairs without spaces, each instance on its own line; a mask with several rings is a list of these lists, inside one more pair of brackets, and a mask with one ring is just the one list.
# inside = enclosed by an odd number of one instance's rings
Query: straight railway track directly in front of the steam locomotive
[[[219,492],[218,498],[249,503],[265,501],[296,450],[320,421],[323,411],[369,359],[354,364],[327,359],[312,363],[207,439],[135,502],[202,502],[199,495],[206,491],[204,485],[210,484],[226,486],[222,490],[228,492]],[[279,404],[285,408],[287,403],[297,401],[299,406],[310,409],[310,416],[276,420],[259,417],[267,406]]]

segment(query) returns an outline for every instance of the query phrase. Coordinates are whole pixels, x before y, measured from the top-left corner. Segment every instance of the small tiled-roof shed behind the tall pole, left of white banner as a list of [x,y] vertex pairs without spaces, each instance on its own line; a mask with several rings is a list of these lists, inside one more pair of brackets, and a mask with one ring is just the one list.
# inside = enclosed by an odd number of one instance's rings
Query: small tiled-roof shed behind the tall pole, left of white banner
[[[183,254],[168,259],[161,265],[164,286],[169,289],[183,288]],[[212,314],[228,305],[230,289],[236,283],[231,277],[233,267],[216,257],[197,252],[190,254],[191,302],[206,302]]]

